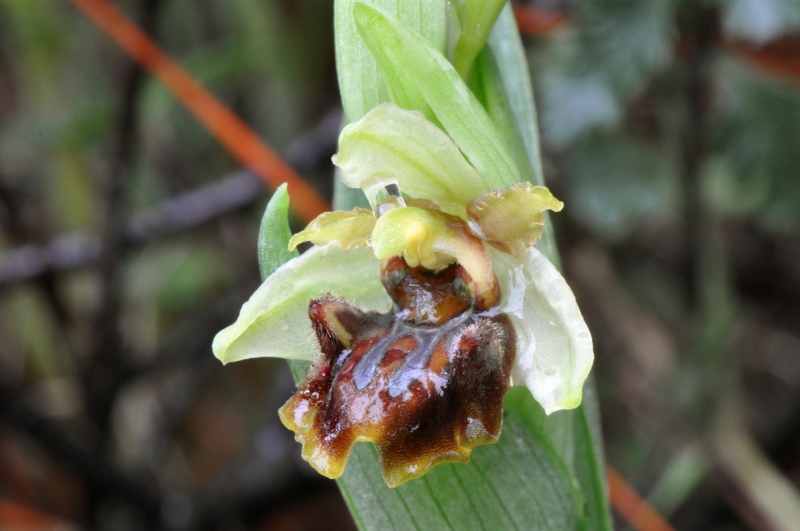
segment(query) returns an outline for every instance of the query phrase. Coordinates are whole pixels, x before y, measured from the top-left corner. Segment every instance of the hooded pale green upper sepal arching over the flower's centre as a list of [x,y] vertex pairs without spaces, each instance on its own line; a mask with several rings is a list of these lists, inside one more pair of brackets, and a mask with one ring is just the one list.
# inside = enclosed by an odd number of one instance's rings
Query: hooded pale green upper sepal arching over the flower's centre
[[344,128],[333,163],[347,186],[362,187],[380,175],[396,179],[404,194],[437,203],[463,205],[486,190],[450,137],[422,113],[392,103]]

